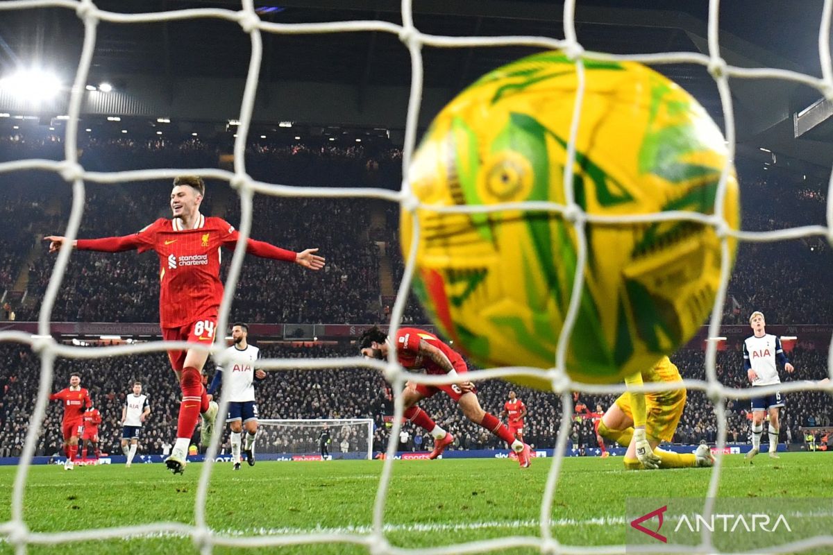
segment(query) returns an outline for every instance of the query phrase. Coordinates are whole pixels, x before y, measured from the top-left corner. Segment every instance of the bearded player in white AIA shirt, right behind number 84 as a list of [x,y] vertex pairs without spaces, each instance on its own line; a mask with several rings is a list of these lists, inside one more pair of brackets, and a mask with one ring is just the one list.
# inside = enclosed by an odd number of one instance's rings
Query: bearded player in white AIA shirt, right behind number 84
[[[231,376],[229,376],[229,388],[223,394],[228,397],[228,415],[226,422],[232,430],[232,463],[234,469],[240,470],[240,447],[243,428],[246,429],[246,444],[243,451],[246,452],[246,462],[249,466],[255,464],[255,435],[257,434],[257,404],[255,404],[254,381],[266,378],[266,372],[255,369],[255,363],[260,355],[260,349],[248,344],[249,326],[243,323],[232,325],[232,344],[226,349],[238,360],[229,363]],[[239,362],[239,359],[245,362]],[[223,369],[217,366],[208,393],[214,394],[222,384]]]

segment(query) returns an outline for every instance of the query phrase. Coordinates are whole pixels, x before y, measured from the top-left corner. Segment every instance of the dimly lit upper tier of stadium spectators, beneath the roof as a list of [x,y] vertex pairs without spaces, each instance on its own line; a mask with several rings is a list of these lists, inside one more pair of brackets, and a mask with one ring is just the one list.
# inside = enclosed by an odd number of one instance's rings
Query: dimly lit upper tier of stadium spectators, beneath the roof
[[[60,141],[2,139],[4,156],[60,158]],[[82,164],[90,170],[122,170],[161,166],[217,166],[217,144],[198,141],[133,141],[127,139],[83,142]],[[401,152],[370,146],[269,146],[252,144],[247,151],[252,175],[262,181],[293,185],[368,185],[356,181],[367,166],[380,169],[374,185],[395,188],[401,178]],[[315,168],[315,172],[312,172]],[[306,176],[306,181],[304,181]],[[32,251],[35,237],[62,233],[67,220],[70,190],[48,172],[0,176],[3,211],[26,211],[26,225],[4,218],[3,237],[9,245],[0,254],[0,288],[13,285],[23,264],[29,270],[26,306],[12,306],[17,320],[37,318],[37,300],[46,290],[55,257]],[[772,230],[821,224],[825,193],[821,184],[801,188],[780,187],[776,180],[757,179],[746,187],[745,230]],[[127,235],[158,217],[169,216],[167,182],[122,186],[87,186],[81,237]],[[55,191],[62,191],[57,195]],[[759,206],[760,205],[760,206]],[[208,183],[202,211],[239,225],[237,196],[227,187]],[[377,217],[374,217],[377,216]],[[384,319],[392,305],[380,299],[380,243],[389,257],[394,286],[402,276],[398,247],[398,208],[365,199],[288,199],[257,196],[252,236],[290,249],[318,246],[327,256],[327,269],[308,275],[249,256],[237,287],[234,310],[244,320],[287,323],[356,323]],[[0,245],[2,246],[2,245]],[[227,265],[231,252],[224,257]],[[833,314],[833,299],[814,286],[826,278],[831,249],[823,240],[780,243],[741,243],[732,274],[724,321],[746,324],[752,310],[761,310],[772,323],[816,324]],[[156,321],[157,265],[155,255],[135,253],[73,256],[64,278],[52,320]],[[778,280],[771,276],[777,275]],[[105,279],[106,278],[106,279]],[[0,314],[2,318],[2,314]],[[407,323],[424,322],[421,307],[412,298],[405,312]]]

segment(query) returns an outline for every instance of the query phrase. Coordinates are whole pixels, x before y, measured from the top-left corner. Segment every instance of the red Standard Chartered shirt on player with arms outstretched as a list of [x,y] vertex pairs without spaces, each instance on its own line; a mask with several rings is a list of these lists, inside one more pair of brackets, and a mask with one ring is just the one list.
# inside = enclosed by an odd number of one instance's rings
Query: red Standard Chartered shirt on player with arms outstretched
[[[190,230],[182,227],[180,218],[159,218],[133,235],[79,239],[77,249],[155,250],[159,255],[159,322],[162,328],[177,328],[217,317],[222,301],[220,247],[233,250],[238,236],[222,218],[200,215]],[[296,258],[292,250],[252,239],[247,252],[289,262]]]

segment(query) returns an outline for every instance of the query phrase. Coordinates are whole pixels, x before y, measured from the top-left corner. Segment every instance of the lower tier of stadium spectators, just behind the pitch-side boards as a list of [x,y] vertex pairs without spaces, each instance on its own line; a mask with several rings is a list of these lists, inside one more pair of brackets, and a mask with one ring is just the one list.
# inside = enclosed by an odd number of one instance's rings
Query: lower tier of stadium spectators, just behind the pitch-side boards
[[[262,356],[283,358],[327,358],[356,354],[350,345],[290,346],[288,344],[262,345]],[[27,431],[27,422],[37,394],[39,361],[35,355],[17,345],[0,345],[0,357],[4,374],[0,376],[0,456],[15,456],[22,449]],[[705,379],[704,355],[698,350],[681,350],[674,361],[686,379]],[[826,354],[820,351],[796,349],[791,354],[796,372],[785,376],[785,381],[800,379],[821,379],[826,375]],[[10,372],[9,369],[15,371]],[[212,374],[208,364],[207,378]],[[171,441],[172,428],[177,421],[180,392],[169,368],[167,359],[161,354],[141,356],[67,360],[58,359],[53,391],[67,384],[71,372],[82,375],[82,386],[90,390],[93,404],[102,412],[100,428],[102,450],[105,453],[120,453],[118,442],[121,428],[118,419],[122,415],[125,395],[130,391],[132,381],[138,379],[144,384],[144,393],[151,404],[151,417],[142,429],[139,453],[162,453],[163,444]],[[721,351],[718,356],[718,375],[723,384],[731,388],[745,387],[746,373],[742,370],[739,351]],[[500,414],[508,392],[513,389],[526,404],[525,439],[536,447],[551,447],[555,444],[560,426],[561,401],[551,393],[514,386],[499,380],[478,382],[478,396],[484,409]],[[289,370],[276,371],[257,384],[257,404],[264,419],[373,419],[373,449],[383,451],[389,436],[390,417],[393,404],[389,386],[380,374],[367,369],[339,370]],[[596,407],[606,409],[614,396],[580,394],[576,404],[584,404],[594,412]],[[801,443],[802,426],[830,425],[833,419],[833,404],[826,394],[804,391],[786,395],[781,441]],[[488,434],[463,417],[461,411],[445,394],[425,399],[420,405],[435,419],[437,424],[456,436],[452,448],[505,448],[500,440]],[[746,443],[749,441],[749,401],[728,399],[727,432],[728,441]],[[60,421],[62,406],[51,403],[47,420],[37,444],[36,453],[52,455],[60,448]],[[421,445],[423,449],[431,444],[430,438],[412,424],[406,424],[409,434],[408,450]],[[264,431],[264,434],[267,434]],[[697,444],[701,440],[714,442],[716,439],[716,417],[711,402],[700,391],[689,391],[686,409],[674,438],[676,443]],[[342,436],[333,434],[332,451],[337,451]],[[317,431],[298,434],[294,441],[307,439],[312,442]],[[421,441],[416,440],[420,436]],[[272,432],[264,436],[272,443],[272,449],[287,446],[289,437],[277,437]],[[355,438],[351,441],[356,440]],[[224,441],[227,442],[227,439]],[[276,443],[277,442],[277,443]],[[595,448],[596,434],[592,420],[586,411],[580,410],[572,423],[571,446]],[[228,451],[227,451],[228,452]]]

